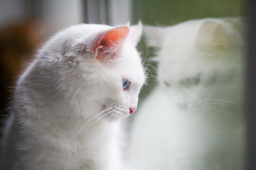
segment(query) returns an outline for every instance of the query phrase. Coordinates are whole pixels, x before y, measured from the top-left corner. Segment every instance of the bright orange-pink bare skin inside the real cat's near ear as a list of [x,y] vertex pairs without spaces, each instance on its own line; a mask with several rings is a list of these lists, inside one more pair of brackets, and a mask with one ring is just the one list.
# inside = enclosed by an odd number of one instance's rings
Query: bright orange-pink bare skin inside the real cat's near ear
[[119,26],[107,31],[101,36],[101,38],[99,38],[97,44],[93,48],[93,51],[96,52],[97,49],[111,48],[112,46],[121,45],[128,33],[129,28],[127,26]]

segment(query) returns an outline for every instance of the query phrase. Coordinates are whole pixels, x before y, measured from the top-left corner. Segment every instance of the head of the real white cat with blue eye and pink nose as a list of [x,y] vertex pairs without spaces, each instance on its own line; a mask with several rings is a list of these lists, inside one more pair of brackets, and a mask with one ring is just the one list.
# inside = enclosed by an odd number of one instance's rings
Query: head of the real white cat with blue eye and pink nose
[[[134,113],[145,81],[135,46],[141,24],[81,24],[61,31],[39,52],[56,92],[79,115],[115,120]],[[53,94],[55,95],[55,94]]]

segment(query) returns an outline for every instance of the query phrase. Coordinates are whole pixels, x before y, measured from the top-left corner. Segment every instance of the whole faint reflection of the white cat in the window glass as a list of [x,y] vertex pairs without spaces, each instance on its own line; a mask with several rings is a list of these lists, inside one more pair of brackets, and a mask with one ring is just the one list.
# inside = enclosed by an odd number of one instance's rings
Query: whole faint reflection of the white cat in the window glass
[[145,26],[158,79],[132,126],[133,170],[244,168],[243,24],[236,18]]

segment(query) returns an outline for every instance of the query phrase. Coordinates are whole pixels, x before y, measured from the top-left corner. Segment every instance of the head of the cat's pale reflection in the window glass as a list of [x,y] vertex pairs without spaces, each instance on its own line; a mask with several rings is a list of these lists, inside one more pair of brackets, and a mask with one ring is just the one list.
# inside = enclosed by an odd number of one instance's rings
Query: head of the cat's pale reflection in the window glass
[[146,27],[159,49],[160,86],[181,110],[237,108],[243,97],[243,36],[238,19],[191,20]]

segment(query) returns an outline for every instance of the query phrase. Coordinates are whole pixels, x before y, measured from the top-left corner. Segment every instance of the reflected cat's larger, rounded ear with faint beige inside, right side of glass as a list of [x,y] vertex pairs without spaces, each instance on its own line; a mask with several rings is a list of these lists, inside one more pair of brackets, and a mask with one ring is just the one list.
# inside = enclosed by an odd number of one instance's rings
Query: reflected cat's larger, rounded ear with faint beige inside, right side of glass
[[222,25],[207,21],[200,26],[195,44],[201,53],[224,52],[228,50],[228,37]]

